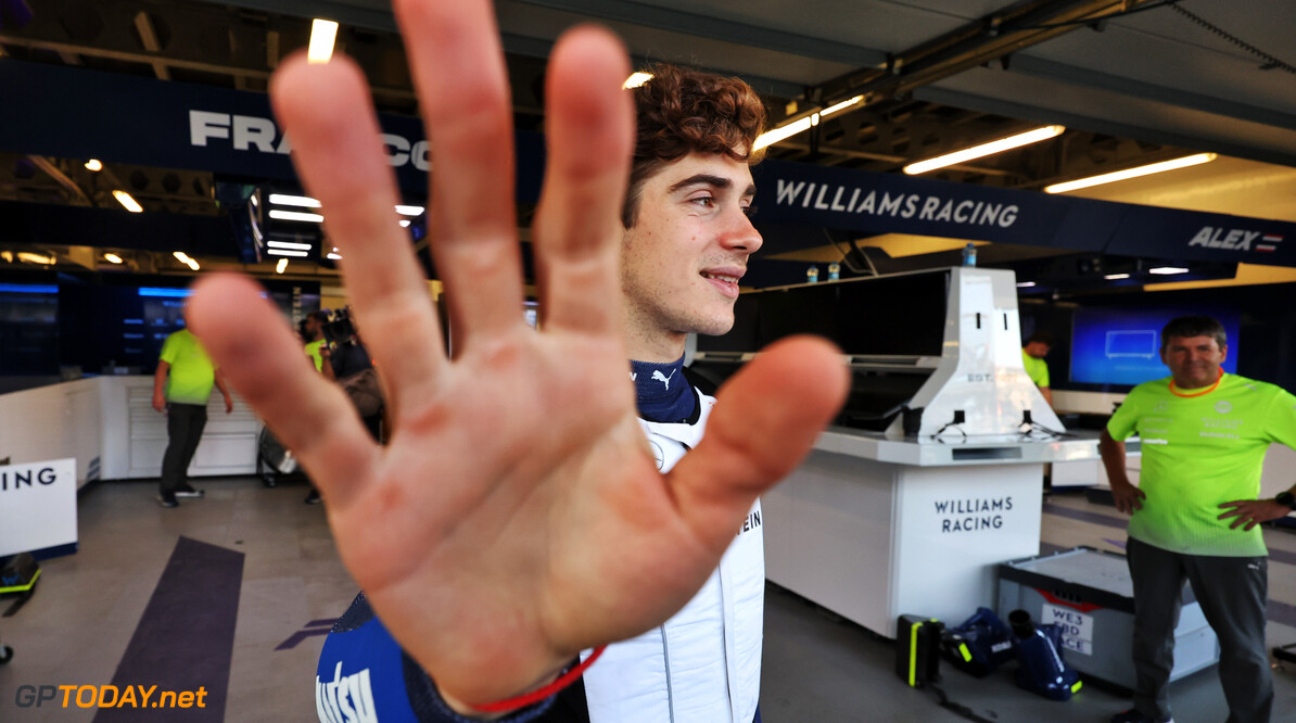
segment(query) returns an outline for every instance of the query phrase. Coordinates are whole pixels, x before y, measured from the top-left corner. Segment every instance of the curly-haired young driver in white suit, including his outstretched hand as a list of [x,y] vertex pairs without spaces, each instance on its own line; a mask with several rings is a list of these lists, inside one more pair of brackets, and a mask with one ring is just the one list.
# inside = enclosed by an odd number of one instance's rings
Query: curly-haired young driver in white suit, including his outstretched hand
[[364,591],[325,641],[320,719],[758,720],[758,496],[809,452],[848,381],[810,338],[772,345],[717,398],[680,368],[687,334],[732,325],[761,245],[746,216],[758,98],[670,67],[627,93],[610,34],[581,27],[557,43],[535,332],[521,314],[491,5],[394,9],[437,154],[429,237],[455,356],[393,223],[391,168],[345,58],[292,58],[271,95],[384,360],[389,443],[368,438],[341,391],[284,362],[292,337],[255,285],[207,279],[191,312],[329,499]]

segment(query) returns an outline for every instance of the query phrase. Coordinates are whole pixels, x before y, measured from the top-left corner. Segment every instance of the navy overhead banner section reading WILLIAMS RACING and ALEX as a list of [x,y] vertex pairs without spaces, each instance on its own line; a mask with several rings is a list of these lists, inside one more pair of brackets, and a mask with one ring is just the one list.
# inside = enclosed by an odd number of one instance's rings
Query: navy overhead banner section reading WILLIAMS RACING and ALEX
[[[1296,224],[766,161],[758,224],[911,233],[1177,260],[1296,266]],[[1284,246],[1284,238],[1293,238]],[[822,246],[822,237],[807,242]]]

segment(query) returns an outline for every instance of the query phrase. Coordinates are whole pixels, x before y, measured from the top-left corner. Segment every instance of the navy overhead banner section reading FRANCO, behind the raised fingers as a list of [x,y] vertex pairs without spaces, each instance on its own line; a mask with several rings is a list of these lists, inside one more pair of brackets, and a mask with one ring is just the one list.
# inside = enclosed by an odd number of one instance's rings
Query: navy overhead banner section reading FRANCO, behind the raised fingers
[[[270,96],[76,67],[0,60],[0,148],[60,158],[295,180]],[[400,187],[422,193],[432,163],[419,118],[380,114]],[[518,133],[518,200],[534,201],[544,141]]]

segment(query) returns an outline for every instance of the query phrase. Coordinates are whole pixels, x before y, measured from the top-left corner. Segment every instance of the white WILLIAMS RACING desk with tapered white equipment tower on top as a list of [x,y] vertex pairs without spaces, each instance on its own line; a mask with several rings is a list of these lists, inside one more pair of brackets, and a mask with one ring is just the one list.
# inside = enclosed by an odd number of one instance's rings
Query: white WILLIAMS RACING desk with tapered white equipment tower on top
[[[699,339],[727,377],[754,350],[819,333],[851,391],[806,461],[762,499],[766,577],[874,632],[902,613],[995,604],[995,565],[1039,552],[1043,465],[1098,457],[1025,374],[1011,271],[945,268],[744,294]],[[744,349],[745,347],[745,349]]]

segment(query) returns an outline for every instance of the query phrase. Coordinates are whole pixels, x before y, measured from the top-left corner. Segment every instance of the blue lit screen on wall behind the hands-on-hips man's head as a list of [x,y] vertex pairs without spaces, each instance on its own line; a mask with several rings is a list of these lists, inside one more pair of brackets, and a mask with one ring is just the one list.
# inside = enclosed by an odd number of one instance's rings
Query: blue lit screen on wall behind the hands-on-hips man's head
[[1078,308],[1070,345],[1070,381],[1134,386],[1170,374],[1161,363],[1161,328],[1175,316],[1205,315],[1223,324],[1229,336],[1229,358],[1223,371],[1238,372],[1238,330],[1235,311],[1218,308]]

